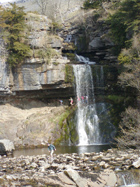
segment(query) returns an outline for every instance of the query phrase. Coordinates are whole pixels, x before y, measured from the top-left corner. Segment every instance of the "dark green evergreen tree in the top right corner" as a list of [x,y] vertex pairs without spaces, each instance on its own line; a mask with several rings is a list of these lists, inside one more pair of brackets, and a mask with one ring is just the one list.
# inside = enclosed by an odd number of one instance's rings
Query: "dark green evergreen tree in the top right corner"
[[119,7],[108,19],[111,24],[111,37],[116,45],[116,54],[123,48],[128,49],[132,46],[133,36],[139,32],[140,26],[139,0],[125,0]]

